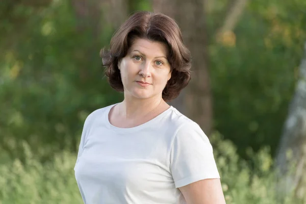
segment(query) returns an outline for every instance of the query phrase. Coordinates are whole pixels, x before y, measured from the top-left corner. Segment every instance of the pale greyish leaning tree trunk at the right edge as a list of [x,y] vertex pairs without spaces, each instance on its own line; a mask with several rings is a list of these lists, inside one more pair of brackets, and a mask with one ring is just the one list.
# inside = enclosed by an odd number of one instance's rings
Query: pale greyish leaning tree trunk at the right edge
[[[283,187],[281,193],[295,190],[298,197],[306,194],[306,43],[304,49],[299,79],[276,156],[276,168],[280,173],[278,186]],[[293,167],[293,172],[289,173],[288,167]]]

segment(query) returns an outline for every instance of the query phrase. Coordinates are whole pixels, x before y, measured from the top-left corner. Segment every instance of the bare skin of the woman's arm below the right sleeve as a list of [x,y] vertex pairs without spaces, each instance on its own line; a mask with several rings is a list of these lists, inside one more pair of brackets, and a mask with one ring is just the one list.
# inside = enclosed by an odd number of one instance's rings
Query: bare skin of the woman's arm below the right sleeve
[[180,187],[187,204],[224,204],[220,179],[200,180]]

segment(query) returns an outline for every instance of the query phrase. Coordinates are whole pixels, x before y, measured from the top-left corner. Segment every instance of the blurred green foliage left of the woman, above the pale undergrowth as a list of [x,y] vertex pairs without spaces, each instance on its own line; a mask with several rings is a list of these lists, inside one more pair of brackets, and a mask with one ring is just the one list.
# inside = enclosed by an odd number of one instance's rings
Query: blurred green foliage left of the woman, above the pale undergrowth
[[[111,32],[96,35],[97,25],[90,23],[84,29],[69,1],[37,10],[15,7],[22,8],[27,22],[16,34],[18,43],[8,32],[7,42],[0,44],[5,50],[0,57],[0,147],[19,159],[23,156],[10,138],[17,139],[17,147],[27,140],[36,153],[49,146],[45,159],[56,150],[75,151],[84,117],[122,97],[110,89],[99,58]],[[33,13],[25,12],[31,8]]]

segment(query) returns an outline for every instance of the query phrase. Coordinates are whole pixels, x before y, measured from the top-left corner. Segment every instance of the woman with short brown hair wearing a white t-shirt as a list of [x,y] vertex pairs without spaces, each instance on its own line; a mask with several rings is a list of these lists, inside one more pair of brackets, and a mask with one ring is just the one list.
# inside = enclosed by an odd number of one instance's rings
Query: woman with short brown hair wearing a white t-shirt
[[225,203],[207,136],[166,103],[190,80],[175,21],[136,12],[100,55],[124,100],[85,121],[74,168],[84,202]]

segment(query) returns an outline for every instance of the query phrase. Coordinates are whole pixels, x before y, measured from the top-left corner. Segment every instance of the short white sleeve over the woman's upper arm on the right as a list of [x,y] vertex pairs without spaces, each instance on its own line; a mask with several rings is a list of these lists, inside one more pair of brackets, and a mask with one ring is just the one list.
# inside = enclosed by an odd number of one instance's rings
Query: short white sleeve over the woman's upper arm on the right
[[213,148],[200,126],[188,121],[177,131],[170,150],[176,188],[204,179],[219,179]]

